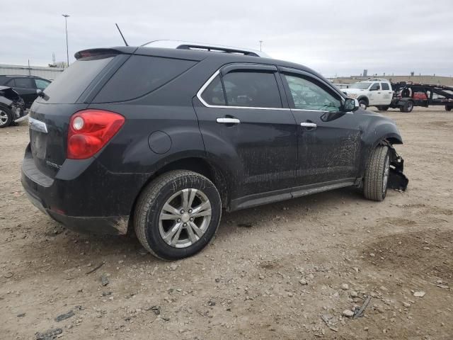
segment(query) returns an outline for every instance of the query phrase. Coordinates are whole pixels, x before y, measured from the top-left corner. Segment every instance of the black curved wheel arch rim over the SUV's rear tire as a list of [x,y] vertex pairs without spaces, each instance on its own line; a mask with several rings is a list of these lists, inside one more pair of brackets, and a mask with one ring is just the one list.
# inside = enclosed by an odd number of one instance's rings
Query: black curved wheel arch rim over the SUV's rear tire
[[134,230],[134,228],[132,227],[134,210],[137,205],[137,200],[144,191],[144,189],[147,188],[149,183],[151,183],[151,181],[154,181],[154,179],[156,179],[157,177],[166,174],[168,171],[174,170],[193,171],[196,172],[197,174],[205,176],[207,179],[212,181],[212,183],[214,183],[214,186],[216,186],[217,191],[219,191],[220,198],[222,200],[222,206],[228,210],[230,193],[229,183],[226,181],[227,174],[225,174],[225,171],[222,170],[222,167],[220,167],[218,164],[214,164],[210,160],[207,160],[203,157],[188,157],[183,159],[177,159],[173,162],[165,164],[164,166],[161,166],[161,168],[154,171],[154,174],[149,176],[149,179],[147,179],[147,181],[143,184],[142,188],[137,193],[134,203],[132,204],[132,207],[130,209],[128,232],[133,232]]

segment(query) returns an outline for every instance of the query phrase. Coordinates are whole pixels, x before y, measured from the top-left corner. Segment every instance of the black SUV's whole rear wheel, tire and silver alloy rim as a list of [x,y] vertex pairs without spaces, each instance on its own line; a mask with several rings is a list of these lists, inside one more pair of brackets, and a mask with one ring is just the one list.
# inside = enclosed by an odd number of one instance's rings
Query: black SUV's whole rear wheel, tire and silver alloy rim
[[197,254],[219,227],[222,202],[214,184],[193,171],[176,170],[144,188],[134,210],[140,243],[159,259]]

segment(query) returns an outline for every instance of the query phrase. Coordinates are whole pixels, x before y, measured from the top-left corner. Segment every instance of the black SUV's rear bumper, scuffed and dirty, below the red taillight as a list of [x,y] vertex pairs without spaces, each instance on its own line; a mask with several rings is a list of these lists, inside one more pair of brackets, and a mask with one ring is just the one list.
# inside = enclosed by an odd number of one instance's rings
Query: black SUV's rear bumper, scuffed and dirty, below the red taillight
[[71,169],[62,166],[52,179],[25,153],[21,181],[30,202],[76,232],[126,234],[132,205],[145,177],[112,174],[96,159],[88,166],[82,164],[81,169],[71,165]]

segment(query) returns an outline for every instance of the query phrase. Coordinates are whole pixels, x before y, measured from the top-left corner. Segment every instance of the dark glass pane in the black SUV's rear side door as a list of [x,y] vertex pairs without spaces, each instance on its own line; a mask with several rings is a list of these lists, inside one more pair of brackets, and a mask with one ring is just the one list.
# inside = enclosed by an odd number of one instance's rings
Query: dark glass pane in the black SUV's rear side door
[[223,77],[228,106],[281,108],[282,100],[273,73],[231,72]]

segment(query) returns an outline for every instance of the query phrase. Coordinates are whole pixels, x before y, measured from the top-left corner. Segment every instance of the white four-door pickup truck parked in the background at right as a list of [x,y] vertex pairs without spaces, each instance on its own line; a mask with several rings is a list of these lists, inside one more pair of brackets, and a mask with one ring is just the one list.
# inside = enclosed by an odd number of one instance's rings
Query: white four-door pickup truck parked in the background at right
[[385,111],[389,108],[394,93],[390,81],[379,78],[359,81],[348,86],[348,89],[341,89],[341,91],[349,98],[357,99],[361,108],[376,106],[379,111]]

